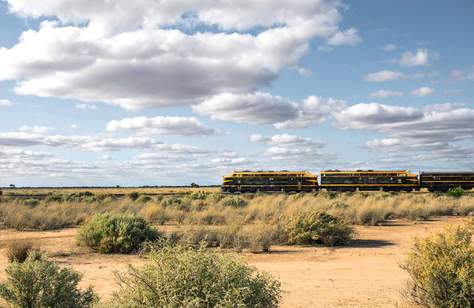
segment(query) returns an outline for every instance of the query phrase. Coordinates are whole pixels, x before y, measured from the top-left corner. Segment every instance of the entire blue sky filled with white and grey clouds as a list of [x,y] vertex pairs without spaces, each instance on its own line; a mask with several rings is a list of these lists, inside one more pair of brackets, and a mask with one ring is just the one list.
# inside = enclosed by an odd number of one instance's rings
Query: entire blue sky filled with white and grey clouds
[[0,0],[0,186],[474,170],[474,2]]

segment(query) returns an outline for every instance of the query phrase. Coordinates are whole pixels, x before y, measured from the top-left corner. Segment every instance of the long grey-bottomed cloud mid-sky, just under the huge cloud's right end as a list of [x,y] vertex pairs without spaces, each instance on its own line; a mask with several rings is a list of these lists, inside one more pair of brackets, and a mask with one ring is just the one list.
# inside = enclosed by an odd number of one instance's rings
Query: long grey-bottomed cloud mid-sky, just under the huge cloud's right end
[[250,124],[273,124],[277,129],[303,128],[323,122],[344,106],[333,98],[310,96],[301,103],[270,93],[221,94],[193,106],[212,119]]

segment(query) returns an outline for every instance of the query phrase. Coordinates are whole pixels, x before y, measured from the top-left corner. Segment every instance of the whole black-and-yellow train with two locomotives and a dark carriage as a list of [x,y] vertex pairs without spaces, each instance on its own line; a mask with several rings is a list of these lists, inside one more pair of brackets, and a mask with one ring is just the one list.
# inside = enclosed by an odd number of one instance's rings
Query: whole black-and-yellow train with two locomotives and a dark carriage
[[223,177],[224,193],[326,191],[447,192],[474,188],[474,172],[410,173],[407,170],[233,171]]

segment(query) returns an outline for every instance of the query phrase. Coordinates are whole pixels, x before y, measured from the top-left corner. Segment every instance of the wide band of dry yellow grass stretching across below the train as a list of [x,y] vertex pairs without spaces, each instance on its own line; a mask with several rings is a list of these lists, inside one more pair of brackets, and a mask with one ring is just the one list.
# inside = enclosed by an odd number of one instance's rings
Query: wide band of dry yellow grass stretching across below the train
[[317,210],[358,225],[383,224],[389,219],[426,220],[441,215],[474,214],[474,194],[460,198],[417,193],[327,193],[301,195],[187,195],[116,199],[104,195],[74,195],[0,202],[0,223],[17,230],[50,230],[82,224],[94,214],[131,213],[158,225],[278,225],[282,218]]

